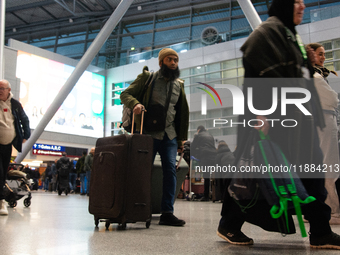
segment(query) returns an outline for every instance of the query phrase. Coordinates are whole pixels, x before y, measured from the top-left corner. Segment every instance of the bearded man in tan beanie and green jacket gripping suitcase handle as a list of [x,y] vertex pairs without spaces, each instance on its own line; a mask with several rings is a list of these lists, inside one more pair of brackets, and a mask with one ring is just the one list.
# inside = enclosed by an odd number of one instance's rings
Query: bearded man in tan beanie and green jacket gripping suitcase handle
[[145,126],[143,130],[154,140],[153,158],[158,152],[162,160],[163,195],[159,224],[183,226],[185,221],[178,219],[173,214],[173,205],[176,191],[176,154],[177,149],[183,150],[183,142],[187,140],[189,107],[184,92],[184,82],[178,79],[180,72],[177,52],[169,48],[162,49],[159,52],[158,60],[160,70],[153,74],[152,83],[149,86],[146,84],[150,72],[144,68],[143,73],[138,75],[137,79],[122,92],[120,99],[123,104],[133,109],[136,115],[137,131],[141,128],[140,114],[142,110],[146,109],[150,114],[154,105],[160,105],[167,109],[164,119],[162,120],[161,116],[157,119],[159,122],[165,122],[164,128],[150,131]]

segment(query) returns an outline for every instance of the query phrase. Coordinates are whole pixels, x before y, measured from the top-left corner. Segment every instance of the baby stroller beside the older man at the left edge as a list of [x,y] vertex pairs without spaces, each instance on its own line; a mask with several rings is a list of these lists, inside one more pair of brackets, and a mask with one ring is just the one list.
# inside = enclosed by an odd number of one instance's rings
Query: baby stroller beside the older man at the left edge
[[30,185],[32,181],[29,179],[28,174],[22,171],[16,170],[18,167],[23,167],[22,164],[10,164],[9,171],[7,173],[7,180],[4,187],[5,200],[10,207],[16,207],[17,201],[25,196],[24,206],[29,207],[31,205],[31,189]]

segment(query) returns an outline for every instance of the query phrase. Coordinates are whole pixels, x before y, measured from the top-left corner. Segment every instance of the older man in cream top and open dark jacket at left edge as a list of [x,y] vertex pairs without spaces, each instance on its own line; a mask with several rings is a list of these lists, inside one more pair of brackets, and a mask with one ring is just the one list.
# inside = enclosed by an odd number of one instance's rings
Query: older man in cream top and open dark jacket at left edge
[[11,84],[0,80],[0,215],[8,215],[3,187],[12,156],[12,145],[21,152],[30,137],[28,117],[19,101],[13,98]]

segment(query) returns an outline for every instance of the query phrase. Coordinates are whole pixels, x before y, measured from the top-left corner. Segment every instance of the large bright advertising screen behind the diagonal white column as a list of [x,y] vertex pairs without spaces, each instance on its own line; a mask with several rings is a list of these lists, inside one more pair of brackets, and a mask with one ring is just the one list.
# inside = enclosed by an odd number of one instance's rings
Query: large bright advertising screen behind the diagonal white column
[[[35,129],[74,70],[34,54],[18,51],[16,76],[20,78],[20,102]],[[102,137],[105,77],[85,71],[45,131]]]

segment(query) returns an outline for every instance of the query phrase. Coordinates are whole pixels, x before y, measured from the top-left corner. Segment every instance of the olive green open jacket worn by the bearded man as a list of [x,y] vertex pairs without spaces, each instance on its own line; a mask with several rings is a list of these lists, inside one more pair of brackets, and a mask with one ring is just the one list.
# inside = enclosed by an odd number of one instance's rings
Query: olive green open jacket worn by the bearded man
[[[145,83],[150,76],[150,72],[146,70],[144,67],[143,73],[139,74],[130,86],[125,89],[121,95],[120,100],[122,104],[126,105],[130,109],[133,109],[135,105],[141,103],[148,109],[151,86],[145,92],[143,99],[141,102],[138,98],[142,97],[143,90],[145,87]],[[183,80],[177,79],[176,82],[179,82],[181,85],[181,93],[179,95],[177,104],[175,105],[176,116],[175,116],[175,129],[177,134],[177,143],[179,146],[182,146],[182,141],[186,141],[188,139],[188,129],[189,129],[189,106],[186,99],[185,91],[184,91],[184,82]],[[141,126],[141,115],[135,116],[136,130],[140,130]]]

